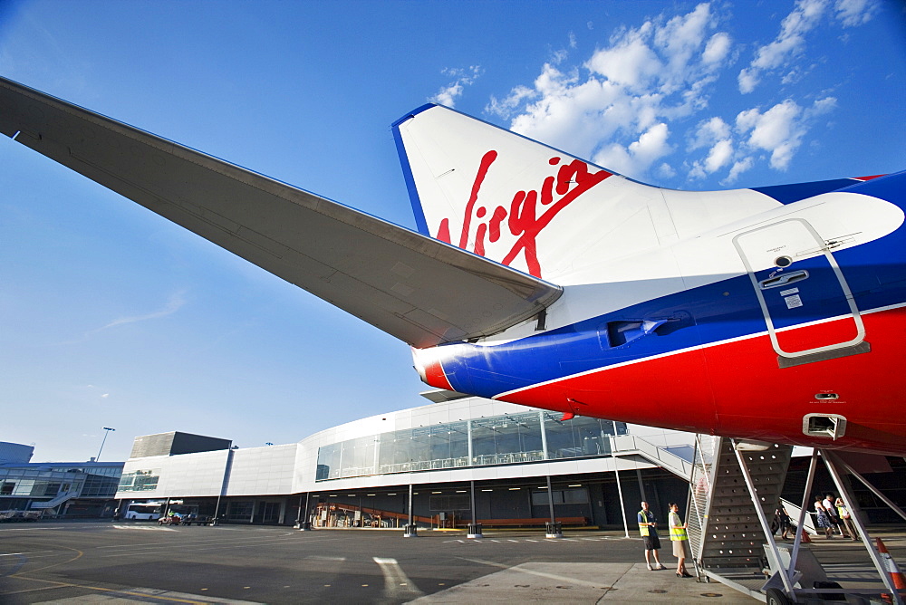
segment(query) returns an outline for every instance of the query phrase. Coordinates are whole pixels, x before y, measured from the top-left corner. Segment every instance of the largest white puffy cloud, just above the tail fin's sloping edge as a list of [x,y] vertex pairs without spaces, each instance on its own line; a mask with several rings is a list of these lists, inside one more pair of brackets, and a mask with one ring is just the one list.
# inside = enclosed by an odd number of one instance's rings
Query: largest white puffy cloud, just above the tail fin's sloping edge
[[707,85],[732,47],[717,27],[702,3],[622,28],[581,66],[545,63],[531,87],[492,97],[485,110],[527,137],[640,176],[673,149],[668,121],[707,106]]

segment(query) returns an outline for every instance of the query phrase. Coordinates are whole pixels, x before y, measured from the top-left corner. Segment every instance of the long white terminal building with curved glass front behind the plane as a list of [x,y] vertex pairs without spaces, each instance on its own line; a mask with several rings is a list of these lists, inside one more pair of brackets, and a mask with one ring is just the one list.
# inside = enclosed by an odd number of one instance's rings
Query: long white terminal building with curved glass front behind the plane
[[[431,399],[432,394],[426,394]],[[137,437],[116,497],[224,523],[315,527],[544,525],[632,528],[641,499],[685,503],[692,436],[563,418],[480,398],[439,400],[294,444],[236,448],[184,433]]]

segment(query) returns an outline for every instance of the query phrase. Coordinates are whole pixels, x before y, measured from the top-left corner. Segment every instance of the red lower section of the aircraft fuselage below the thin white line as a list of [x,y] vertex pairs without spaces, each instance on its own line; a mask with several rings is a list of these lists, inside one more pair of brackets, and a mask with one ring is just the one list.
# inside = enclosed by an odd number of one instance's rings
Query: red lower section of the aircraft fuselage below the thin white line
[[[806,326],[807,340],[841,322]],[[630,363],[520,390],[499,399],[656,427],[796,445],[906,454],[903,334],[906,309],[863,315],[872,351],[781,369],[766,334]],[[793,331],[786,331],[794,337]],[[790,333],[794,332],[794,333]],[[839,399],[818,400],[833,392]],[[809,413],[847,419],[837,440],[803,434]]]

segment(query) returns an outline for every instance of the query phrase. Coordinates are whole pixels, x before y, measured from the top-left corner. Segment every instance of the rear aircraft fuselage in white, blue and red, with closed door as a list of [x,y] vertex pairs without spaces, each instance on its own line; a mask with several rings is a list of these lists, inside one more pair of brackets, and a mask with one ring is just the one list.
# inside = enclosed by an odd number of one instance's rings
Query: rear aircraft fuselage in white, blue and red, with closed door
[[564,414],[903,455],[903,181],[618,259],[612,282],[565,286],[544,330],[416,350],[417,366],[438,388]]

